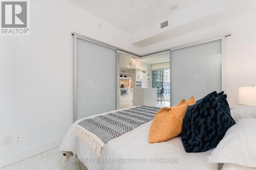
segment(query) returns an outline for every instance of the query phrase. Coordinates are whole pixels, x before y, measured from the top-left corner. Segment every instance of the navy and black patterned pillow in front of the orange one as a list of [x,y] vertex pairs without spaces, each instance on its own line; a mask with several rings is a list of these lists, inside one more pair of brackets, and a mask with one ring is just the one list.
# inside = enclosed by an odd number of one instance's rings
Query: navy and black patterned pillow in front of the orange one
[[218,102],[223,97],[217,99],[214,94],[206,95],[186,111],[181,132],[186,152],[205,152],[216,148],[226,131],[236,124]]

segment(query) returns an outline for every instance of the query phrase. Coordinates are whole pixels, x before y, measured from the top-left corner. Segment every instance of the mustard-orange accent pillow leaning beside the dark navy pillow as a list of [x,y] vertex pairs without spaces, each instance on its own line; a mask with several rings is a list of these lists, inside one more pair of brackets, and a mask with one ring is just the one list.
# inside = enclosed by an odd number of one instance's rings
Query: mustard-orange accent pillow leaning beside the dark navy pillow
[[195,104],[194,96],[188,101],[184,99],[174,107],[163,107],[156,114],[148,135],[149,143],[166,141],[181,133],[182,122],[188,105]]

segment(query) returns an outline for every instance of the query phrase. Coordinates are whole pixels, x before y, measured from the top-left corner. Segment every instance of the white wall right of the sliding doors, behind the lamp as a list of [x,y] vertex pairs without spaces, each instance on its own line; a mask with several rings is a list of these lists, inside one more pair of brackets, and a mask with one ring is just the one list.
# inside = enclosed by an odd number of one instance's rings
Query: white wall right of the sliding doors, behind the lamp
[[231,20],[225,41],[226,90],[230,105],[237,105],[239,86],[256,84],[256,12]]

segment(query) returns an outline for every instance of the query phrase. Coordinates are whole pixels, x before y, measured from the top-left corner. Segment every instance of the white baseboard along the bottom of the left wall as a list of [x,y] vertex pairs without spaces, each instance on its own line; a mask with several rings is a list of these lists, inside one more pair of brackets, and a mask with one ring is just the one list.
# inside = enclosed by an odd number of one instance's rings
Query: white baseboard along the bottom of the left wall
[[45,143],[45,144],[39,145],[34,148],[30,148],[30,149],[22,151],[22,152],[18,152],[14,155],[3,157],[3,158],[1,158],[1,161],[0,161],[0,168],[10,165],[10,164],[13,164],[13,163],[16,163],[16,162],[19,162],[19,161],[22,161],[24,159],[30,158],[37,154],[49,151],[51,149],[57,148],[57,147],[59,147],[61,141],[62,141],[62,138],[53,140],[49,143]]

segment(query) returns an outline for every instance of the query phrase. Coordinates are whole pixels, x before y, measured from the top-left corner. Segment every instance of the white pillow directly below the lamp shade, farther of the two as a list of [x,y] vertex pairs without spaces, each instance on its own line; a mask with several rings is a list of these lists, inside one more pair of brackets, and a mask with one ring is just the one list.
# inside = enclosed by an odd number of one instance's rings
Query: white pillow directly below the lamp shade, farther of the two
[[233,119],[256,118],[256,106],[231,106],[230,112]]

